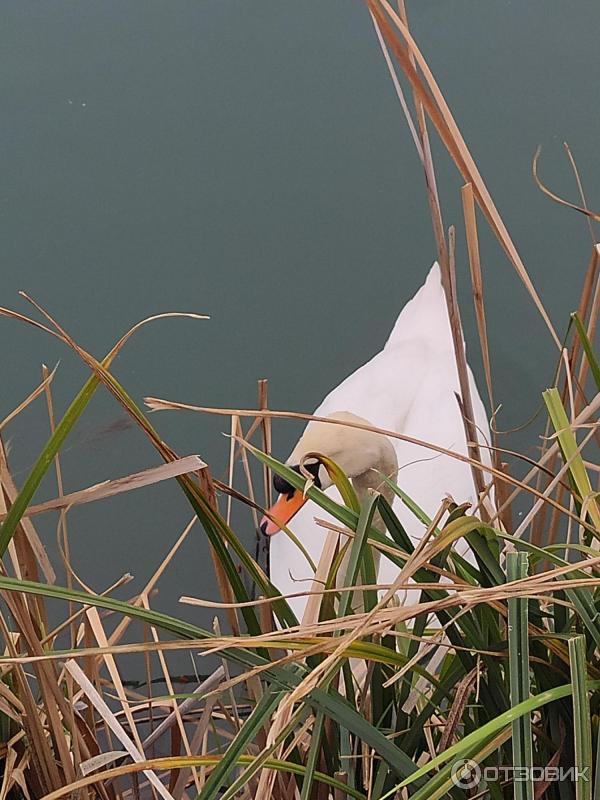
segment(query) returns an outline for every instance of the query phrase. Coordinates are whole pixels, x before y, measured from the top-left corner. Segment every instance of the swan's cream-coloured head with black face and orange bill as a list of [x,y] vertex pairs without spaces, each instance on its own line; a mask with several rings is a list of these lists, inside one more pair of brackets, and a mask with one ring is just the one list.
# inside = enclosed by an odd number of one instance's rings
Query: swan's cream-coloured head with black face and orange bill
[[[336,411],[329,414],[328,418],[370,425],[367,420],[349,411]],[[396,453],[387,436],[348,425],[311,421],[286,464],[300,474],[308,473],[315,486],[323,491],[331,486],[332,481],[319,461],[319,455],[335,461],[350,479],[360,479],[375,471],[391,474],[398,467]],[[295,489],[278,475],[273,478],[273,486],[279,492],[279,497],[269,509],[269,516],[263,517],[260,524],[261,531],[268,536],[286,525],[306,502],[301,490]]]

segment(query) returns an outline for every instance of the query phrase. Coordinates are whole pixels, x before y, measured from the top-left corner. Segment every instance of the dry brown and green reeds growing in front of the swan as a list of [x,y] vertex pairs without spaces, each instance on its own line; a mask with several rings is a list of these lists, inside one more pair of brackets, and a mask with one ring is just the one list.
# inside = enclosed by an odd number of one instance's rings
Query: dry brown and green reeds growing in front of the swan
[[[402,4],[398,13],[386,0],[367,0],[367,6],[390,70],[396,77],[395,63],[412,91],[410,112],[400,82],[395,84],[426,177],[463,379],[461,401],[473,442],[470,461],[480,489],[479,506],[445,503],[429,519],[401,485],[382,476],[422,522],[423,541],[414,549],[389,503],[374,494],[361,506],[351,484],[329,464],[345,502],[338,505],[314,486],[308,489],[339,526],[324,527],[328,558],[318,565],[317,584],[324,588],[316,589],[310,618],[299,626],[286,599],[219,510],[223,495],[255,510],[258,490],[250,484],[246,497],[215,480],[199,459],[180,459],[111,374],[114,358],[143,323],[99,361],[29,298],[35,319],[2,309],[4,315],[58,337],[83,360],[90,377],[55,423],[54,376],[46,371],[40,386],[1,423],[5,427],[23,408],[45,397],[53,430],[20,489],[0,448],[1,800],[600,797],[600,508],[594,489],[600,470],[595,458],[600,363],[592,345],[600,291],[598,247],[593,247],[580,307],[563,342],[412,40]],[[557,348],[555,386],[543,395],[547,436],[537,463],[529,463],[520,478],[506,467],[495,434],[492,466],[482,465],[484,443],[475,444],[477,432],[469,423],[454,231],[446,233],[442,221],[428,125],[465,181],[464,223],[491,408],[476,208],[527,286]],[[594,216],[583,196],[577,208]],[[61,448],[100,388],[119,401],[165,466],[64,495]],[[154,410],[211,411],[157,399],[148,399],[147,405]],[[234,458],[254,460],[265,475],[272,471],[304,487],[301,475],[268,453],[270,420],[293,414],[266,407],[212,411],[234,418],[239,434]],[[253,419],[245,433],[240,422],[244,416]],[[257,435],[260,447],[250,441]],[[52,469],[57,499],[33,505],[36,490]],[[151,607],[152,591],[187,531],[144,591],[129,602],[114,599],[115,587],[96,594],[75,589],[70,581],[57,585],[37,536],[35,515],[57,513],[68,562],[69,508],[167,478],[179,482],[202,524],[221,592],[218,603],[187,601],[219,608],[227,633],[203,630]],[[268,481],[264,486],[262,505],[268,502]],[[461,498],[455,499],[460,503]],[[512,513],[516,503],[526,509],[518,525]],[[383,520],[389,536],[373,526],[374,518]],[[468,541],[476,566],[456,553],[459,539]],[[346,571],[338,575],[346,548]],[[379,593],[375,548],[399,570],[396,583]],[[396,602],[395,591],[409,580],[420,585],[420,602],[404,607]],[[57,601],[63,621],[50,627],[48,604]],[[358,607],[360,612],[353,611]],[[427,627],[428,619],[436,624]],[[143,636],[126,640],[128,633],[139,630]],[[168,674],[163,654],[169,649],[218,653],[223,666],[182,697],[175,694]],[[120,659],[130,652],[143,652],[160,666],[167,696],[153,697],[150,683],[135,691],[127,687]],[[164,755],[154,755],[155,745]],[[465,760],[472,763],[463,769]],[[470,779],[473,765],[479,782]],[[498,765],[503,769],[494,769]],[[531,767],[537,773],[526,769]],[[556,780],[557,775],[563,780]]]

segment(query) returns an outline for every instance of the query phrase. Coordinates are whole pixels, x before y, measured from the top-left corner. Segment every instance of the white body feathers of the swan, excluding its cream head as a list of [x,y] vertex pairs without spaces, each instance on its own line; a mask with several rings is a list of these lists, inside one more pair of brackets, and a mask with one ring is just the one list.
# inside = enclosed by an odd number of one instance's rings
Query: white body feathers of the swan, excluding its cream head
[[[475,423],[485,444],[489,441],[487,416],[470,371],[469,380]],[[400,313],[383,350],[333,389],[315,414],[350,411],[376,427],[467,455],[458,390],[450,322],[436,263]],[[398,459],[397,483],[429,516],[446,495],[457,503],[476,500],[468,464],[399,439],[391,442]],[[486,452],[483,448],[484,460]],[[337,494],[335,489],[328,491]],[[423,525],[400,501],[394,503],[394,511],[413,541],[419,541]],[[326,531],[315,524],[315,517],[326,519],[327,515],[308,502],[289,527],[317,564]],[[391,583],[397,574],[397,567],[382,558],[379,582]],[[282,532],[273,536],[271,580],[275,586],[284,594],[306,591],[312,577],[313,570],[296,545]],[[306,598],[294,599],[291,605],[301,618]]]

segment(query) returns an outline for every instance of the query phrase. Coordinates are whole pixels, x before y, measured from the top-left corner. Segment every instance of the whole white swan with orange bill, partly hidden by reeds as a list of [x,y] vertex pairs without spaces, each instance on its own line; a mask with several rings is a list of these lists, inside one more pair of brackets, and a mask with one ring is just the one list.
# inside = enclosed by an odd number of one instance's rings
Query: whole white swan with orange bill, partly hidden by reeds
[[[488,420],[470,370],[469,382],[475,424],[482,437],[480,441],[485,443],[489,441]],[[375,427],[466,455],[458,391],[450,322],[440,268],[435,263],[424,285],[400,313],[383,350],[333,389],[315,415],[350,412],[351,418],[356,415]],[[306,453],[315,451],[333,458],[352,478],[359,493],[380,484],[377,472],[390,474],[392,478],[395,477],[392,473],[397,472],[398,485],[430,516],[436,513],[446,495],[458,503],[473,503],[477,499],[468,464],[399,439],[312,421],[286,463],[297,467]],[[482,459],[489,463],[487,452],[482,449]],[[319,468],[316,462],[312,467],[310,462],[307,466],[323,488],[338,499],[323,466]],[[327,519],[328,515],[314,503],[304,502],[302,494],[290,491],[291,487],[281,479],[276,478],[274,483],[282,493],[270,509],[271,517],[287,524],[318,564],[326,531],[314,520]],[[423,525],[398,499],[394,511],[417,543],[423,536]],[[309,591],[314,573],[297,545],[272,520],[263,518],[261,527],[264,533],[275,534],[270,547],[273,584],[282,594]],[[461,544],[464,553],[467,547],[464,542]],[[398,568],[382,558],[379,583],[392,583],[397,575]],[[417,592],[409,592],[405,602],[416,598]],[[292,598],[289,602],[298,619],[302,619],[306,598]]]

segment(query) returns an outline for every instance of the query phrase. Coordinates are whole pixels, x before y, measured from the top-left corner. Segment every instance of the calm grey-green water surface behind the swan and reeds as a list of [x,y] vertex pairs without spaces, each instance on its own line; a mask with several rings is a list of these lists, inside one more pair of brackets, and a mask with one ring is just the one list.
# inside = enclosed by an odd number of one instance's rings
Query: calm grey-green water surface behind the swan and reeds
[[[530,166],[576,198],[573,148],[591,206],[598,191],[595,2],[409,2],[413,32],[446,94],[559,332],[577,301],[590,241],[582,218],[535,188]],[[0,303],[27,289],[96,355],[164,310],[209,313],[142,331],[116,364],[136,398],[312,410],[385,340],[434,247],[421,170],[359,0],[119,0],[0,3]],[[446,224],[459,230],[459,287],[481,380],[461,232],[461,180],[436,148]],[[499,424],[523,423],[556,353],[525,290],[482,233]],[[64,410],[85,370],[48,337],[0,321],[4,416],[61,364]],[[158,463],[98,393],[67,444],[67,490]],[[222,475],[224,419],[155,416],[181,454]],[[276,425],[284,456],[297,427]],[[47,436],[38,403],[6,432],[22,481]],[[508,440],[535,442],[531,434]],[[52,482],[39,498],[55,493]],[[75,509],[76,569],[130,596],[190,516],[174,485]],[[248,541],[252,530],[240,518]],[[40,520],[48,543],[54,521]],[[205,539],[192,534],[156,607],[216,596]],[[193,615],[206,624],[210,614]]]

